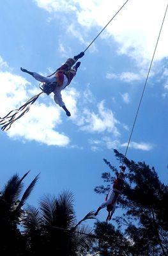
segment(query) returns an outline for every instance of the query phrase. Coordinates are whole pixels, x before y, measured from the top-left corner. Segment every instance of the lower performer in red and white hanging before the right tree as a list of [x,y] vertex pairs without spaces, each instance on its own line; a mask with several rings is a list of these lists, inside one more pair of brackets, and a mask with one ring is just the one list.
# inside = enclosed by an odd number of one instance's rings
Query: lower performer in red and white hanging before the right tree
[[123,179],[124,179],[124,172],[126,167],[125,166],[119,166],[121,168],[121,172],[116,173],[117,178],[114,180],[114,184],[112,186],[111,191],[109,191],[108,195],[105,198],[105,202],[98,207],[97,211],[95,212],[95,216],[98,214],[98,212],[107,207],[107,211],[109,212],[106,222],[108,220],[111,220],[112,214],[114,213],[116,209],[116,202],[118,199],[118,196],[121,194],[121,188],[123,184]]

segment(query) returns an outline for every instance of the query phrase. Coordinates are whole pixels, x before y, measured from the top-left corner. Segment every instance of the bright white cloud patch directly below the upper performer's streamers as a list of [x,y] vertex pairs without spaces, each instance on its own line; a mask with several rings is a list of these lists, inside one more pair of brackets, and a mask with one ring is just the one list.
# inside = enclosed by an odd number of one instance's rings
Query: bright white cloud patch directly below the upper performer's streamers
[[70,139],[65,134],[55,131],[59,124],[61,124],[59,111],[54,106],[38,103],[11,127],[8,136],[14,139],[34,140],[49,146],[65,147],[70,143]]

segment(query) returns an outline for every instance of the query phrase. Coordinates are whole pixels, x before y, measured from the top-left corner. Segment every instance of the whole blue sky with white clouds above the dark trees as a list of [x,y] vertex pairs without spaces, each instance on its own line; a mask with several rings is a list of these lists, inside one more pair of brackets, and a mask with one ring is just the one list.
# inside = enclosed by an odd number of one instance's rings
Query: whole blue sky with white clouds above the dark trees
[[[20,67],[48,75],[73,57],[107,24],[122,0],[1,1],[0,116],[40,92]],[[151,9],[151,4],[153,8]],[[102,159],[119,166],[112,148],[125,153],[137,104],[148,72],[166,1],[130,1],[96,40],[77,76],[62,93],[72,116],[41,97],[10,131],[0,132],[2,187],[13,173],[31,170],[26,185],[40,172],[29,198],[70,189],[80,219],[96,209]],[[145,8],[144,8],[145,6]],[[143,15],[142,15],[143,14]],[[127,157],[155,166],[167,184],[168,65],[166,17],[155,62],[142,100]],[[116,215],[121,213],[116,211]],[[99,219],[105,218],[105,210]]]

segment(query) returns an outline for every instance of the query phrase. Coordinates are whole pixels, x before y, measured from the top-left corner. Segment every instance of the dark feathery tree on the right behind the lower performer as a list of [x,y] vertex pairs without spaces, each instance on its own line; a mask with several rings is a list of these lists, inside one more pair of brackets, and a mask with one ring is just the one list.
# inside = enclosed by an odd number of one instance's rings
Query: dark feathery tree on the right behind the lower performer
[[[115,156],[120,163],[123,162],[123,155],[114,150]],[[116,168],[104,159],[112,172]],[[108,244],[110,252],[114,255],[168,255],[168,186],[160,182],[155,168],[149,168],[146,163],[135,163],[127,158],[124,159],[127,167],[125,182],[123,184],[123,195],[118,199],[118,205],[123,209],[123,216],[116,217],[118,229],[108,226],[114,241],[121,236],[121,241],[128,241],[126,251],[116,253],[114,243],[104,241]],[[106,193],[114,177],[111,173],[102,174],[106,186],[97,186],[96,193]],[[103,225],[96,225],[96,235],[103,234]],[[105,227],[106,228],[106,227]],[[125,231],[123,231],[125,229]],[[121,232],[122,230],[122,232]],[[108,240],[108,239],[107,239]],[[121,243],[121,245],[125,243]],[[95,250],[98,250],[98,246]],[[105,249],[105,248],[104,248]],[[103,248],[102,248],[103,250]],[[112,251],[113,250],[113,251]],[[128,253],[128,254],[126,254]],[[103,254],[113,255],[113,254]]]

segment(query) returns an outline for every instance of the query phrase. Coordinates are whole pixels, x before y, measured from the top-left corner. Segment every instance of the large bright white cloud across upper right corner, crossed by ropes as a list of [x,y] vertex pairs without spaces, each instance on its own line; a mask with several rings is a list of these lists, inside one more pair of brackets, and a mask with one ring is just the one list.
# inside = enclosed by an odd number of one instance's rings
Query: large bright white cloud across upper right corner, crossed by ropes
[[[125,3],[125,0],[35,1],[39,7],[50,13],[75,12],[79,24],[88,29],[95,27],[102,29],[121,5]],[[166,5],[166,0],[129,1],[117,17],[112,20],[111,24],[107,26],[104,35],[112,35],[113,40],[116,40],[119,54],[131,56],[139,62],[139,65],[146,63],[153,54]],[[168,56],[167,25],[168,19],[165,19],[155,56],[156,60]]]

